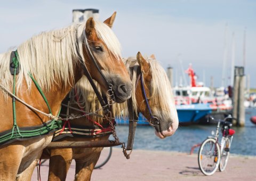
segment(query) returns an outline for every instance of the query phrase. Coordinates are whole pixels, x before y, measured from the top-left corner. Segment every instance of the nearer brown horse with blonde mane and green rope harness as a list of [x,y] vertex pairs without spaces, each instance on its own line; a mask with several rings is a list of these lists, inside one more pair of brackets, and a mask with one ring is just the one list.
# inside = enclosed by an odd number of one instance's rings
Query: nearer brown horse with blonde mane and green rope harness
[[[52,140],[53,128],[60,124],[42,112],[49,113],[51,109],[54,116],[58,115],[62,100],[83,76],[84,64],[103,92],[109,90],[105,80],[111,84],[116,102],[131,96],[131,80],[121,59],[118,39],[110,29],[114,19],[115,13],[104,23],[90,18],[34,36],[18,46],[11,66],[11,52],[0,54],[0,180],[31,179],[43,149]],[[15,75],[18,69],[19,74]],[[42,87],[49,108],[36,84]],[[19,101],[15,102],[12,89]]]

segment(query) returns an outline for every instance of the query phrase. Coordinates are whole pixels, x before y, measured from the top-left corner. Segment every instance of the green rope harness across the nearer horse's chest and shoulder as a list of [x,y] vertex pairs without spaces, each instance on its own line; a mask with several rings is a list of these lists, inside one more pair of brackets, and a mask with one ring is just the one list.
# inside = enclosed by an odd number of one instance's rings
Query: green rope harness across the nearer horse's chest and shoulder
[[[19,73],[19,55],[18,55],[17,51],[14,51],[11,53],[10,71],[13,75],[12,95],[15,96],[16,75]],[[38,85],[37,81],[34,79],[34,77],[31,75],[31,73],[29,73],[29,76],[33,80],[39,93],[42,95],[42,97],[49,109],[50,114],[52,114],[50,105],[49,105],[41,87]],[[17,120],[16,120],[17,116],[16,116],[16,105],[15,105],[15,97],[14,96],[12,98],[13,127],[10,130],[6,130],[6,131],[3,131],[2,133],[0,133],[0,145],[9,144],[16,140],[25,140],[25,139],[29,139],[30,137],[49,134],[50,132],[55,131],[57,128],[61,127],[61,121],[56,120],[55,117],[53,117],[53,119],[47,121],[46,123],[42,124],[41,126],[19,128],[19,126],[17,125]]]

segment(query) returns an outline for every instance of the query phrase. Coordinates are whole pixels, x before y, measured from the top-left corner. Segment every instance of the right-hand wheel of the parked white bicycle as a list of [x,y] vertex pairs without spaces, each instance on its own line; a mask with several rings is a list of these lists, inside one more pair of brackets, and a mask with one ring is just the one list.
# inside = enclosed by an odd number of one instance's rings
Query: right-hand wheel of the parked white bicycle
[[219,164],[219,170],[224,171],[227,163],[228,163],[228,157],[229,157],[229,149],[230,149],[230,140],[228,137],[225,139],[225,143],[221,146],[221,155],[220,155],[220,164]]

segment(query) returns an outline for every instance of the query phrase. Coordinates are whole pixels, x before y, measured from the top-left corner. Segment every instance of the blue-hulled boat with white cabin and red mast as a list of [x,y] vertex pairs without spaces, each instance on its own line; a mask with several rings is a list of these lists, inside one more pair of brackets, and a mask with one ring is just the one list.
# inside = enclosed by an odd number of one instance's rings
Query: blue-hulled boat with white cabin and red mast
[[[209,87],[196,84],[193,68],[189,67],[186,72],[190,76],[190,86],[175,86],[173,95],[178,112],[179,125],[211,124],[209,116],[214,119],[225,117],[231,110],[231,100],[222,88],[217,89],[215,95]],[[226,102],[225,102],[226,101]],[[116,119],[119,125],[128,125],[127,119]],[[139,114],[138,125],[149,125],[147,119]]]

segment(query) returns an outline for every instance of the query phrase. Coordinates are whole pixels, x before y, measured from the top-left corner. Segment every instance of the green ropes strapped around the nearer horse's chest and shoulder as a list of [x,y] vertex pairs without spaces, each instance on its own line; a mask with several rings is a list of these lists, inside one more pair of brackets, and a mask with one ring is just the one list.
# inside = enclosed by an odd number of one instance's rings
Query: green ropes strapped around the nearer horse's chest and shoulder
[[[17,50],[15,51],[15,56],[12,59],[14,64],[14,75],[13,75],[13,95],[15,95],[15,84],[16,84],[16,72],[17,68],[19,66],[19,55]],[[49,102],[47,101],[46,96],[44,95],[42,88],[39,86],[37,81],[34,79],[34,77],[29,73],[30,78],[33,80],[34,84],[36,85],[39,93],[42,95],[49,112],[52,114]],[[13,108],[13,127],[11,129],[10,133],[7,133],[5,135],[0,136],[0,144],[10,141],[14,138],[26,138],[26,137],[33,137],[33,136],[39,136],[49,133],[49,131],[60,128],[62,121],[61,120],[55,120],[53,119],[50,124],[44,125],[42,128],[34,129],[34,130],[20,130],[17,125],[17,119],[16,119],[16,105],[15,105],[15,98],[13,97],[12,101],[12,108]],[[61,110],[61,109],[60,109]],[[60,114],[60,111],[58,113],[58,116]]]

